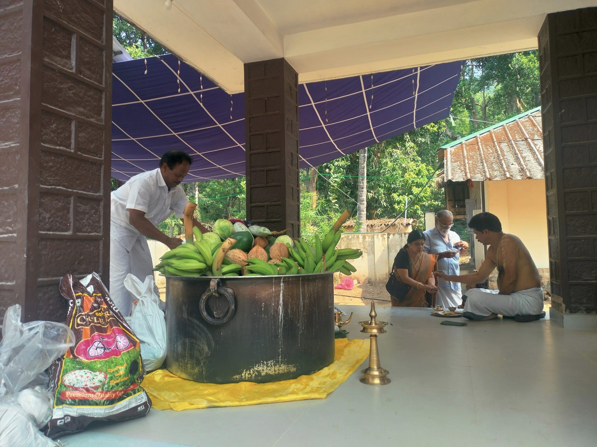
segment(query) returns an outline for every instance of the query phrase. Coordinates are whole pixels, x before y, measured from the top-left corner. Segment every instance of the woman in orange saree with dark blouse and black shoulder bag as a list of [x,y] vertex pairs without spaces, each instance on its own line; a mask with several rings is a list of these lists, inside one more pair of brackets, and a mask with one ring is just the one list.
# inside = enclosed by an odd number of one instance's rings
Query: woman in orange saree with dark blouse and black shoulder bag
[[392,306],[435,308],[437,255],[423,252],[424,242],[423,232],[411,231],[407,244],[396,254],[386,285]]

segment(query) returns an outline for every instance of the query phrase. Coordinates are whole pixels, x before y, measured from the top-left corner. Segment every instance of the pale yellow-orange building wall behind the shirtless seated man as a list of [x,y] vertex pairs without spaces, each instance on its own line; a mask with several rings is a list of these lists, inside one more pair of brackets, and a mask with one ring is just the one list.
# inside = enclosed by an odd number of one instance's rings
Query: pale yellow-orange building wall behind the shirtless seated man
[[485,211],[500,219],[504,232],[521,238],[537,268],[549,268],[544,179],[486,180]]

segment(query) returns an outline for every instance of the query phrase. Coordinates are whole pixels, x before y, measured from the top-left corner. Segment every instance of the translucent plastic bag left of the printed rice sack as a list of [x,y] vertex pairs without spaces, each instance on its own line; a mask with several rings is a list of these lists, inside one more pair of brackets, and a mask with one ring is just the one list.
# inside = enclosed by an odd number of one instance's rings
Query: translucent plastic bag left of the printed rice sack
[[73,344],[75,335],[67,325],[21,323],[21,306],[7,309],[0,342],[0,447],[61,445],[39,431],[53,409],[44,371]]

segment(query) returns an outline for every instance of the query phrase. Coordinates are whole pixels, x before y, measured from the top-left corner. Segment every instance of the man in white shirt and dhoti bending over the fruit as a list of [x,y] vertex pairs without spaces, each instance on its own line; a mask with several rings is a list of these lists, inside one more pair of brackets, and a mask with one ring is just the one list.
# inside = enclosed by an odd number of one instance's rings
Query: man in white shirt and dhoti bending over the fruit
[[[172,213],[183,218],[189,202],[180,182],[189,173],[192,159],[183,151],[168,151],[159,160],[158,169],[130,178],[110,200],[110,297],[122,315],[133,308],[133,297],[124,287],[124,278],[132,273],[141,281],[153,274],[147,238],[160,241],[170,249],[182,240],[168,237],[156,228]],[[193,225],[204,228],[195,218]],[[156,287],[156,293],[158,292]]]

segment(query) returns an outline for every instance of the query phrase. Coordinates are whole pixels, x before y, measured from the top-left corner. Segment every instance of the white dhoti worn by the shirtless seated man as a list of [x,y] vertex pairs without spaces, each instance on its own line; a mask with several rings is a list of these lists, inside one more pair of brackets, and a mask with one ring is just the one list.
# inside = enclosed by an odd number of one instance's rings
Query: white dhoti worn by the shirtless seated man
[[468,319],[484,319],[491,313],[503,316],[538,315],[543,312],[543,289],[527,288],[500,295],[499,290],[472,288],[466,291],[463,316]]

